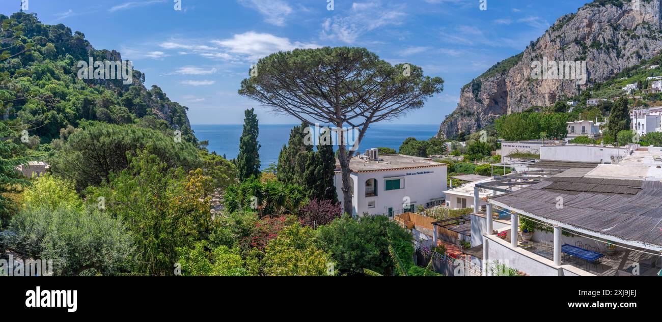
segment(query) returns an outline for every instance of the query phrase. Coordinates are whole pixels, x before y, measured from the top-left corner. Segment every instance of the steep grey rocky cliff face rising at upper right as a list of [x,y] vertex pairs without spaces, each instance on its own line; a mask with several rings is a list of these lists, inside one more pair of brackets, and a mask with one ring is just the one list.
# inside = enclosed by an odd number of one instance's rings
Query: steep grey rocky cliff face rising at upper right
[[[662,49],[660,3],[598,0],[559,18],[524,52],[500,61],[465,85],[457,108],[444,120],[438,136],[451,138],[459,132],[475,132],[500,115],[530,106],[549,106],[656,56]],[[585,61],[586,82],[532,73],[532,67],[543,61]]]

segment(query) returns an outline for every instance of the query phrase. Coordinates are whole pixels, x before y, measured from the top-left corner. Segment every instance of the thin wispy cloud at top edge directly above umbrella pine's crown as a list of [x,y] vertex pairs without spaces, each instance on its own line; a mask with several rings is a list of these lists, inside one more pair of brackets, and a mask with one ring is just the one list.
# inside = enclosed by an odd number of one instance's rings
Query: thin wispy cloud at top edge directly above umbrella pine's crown
[[406,17],[404,5],[382,5],[381,1],[354,3],[349,15],[325,19],[322,22],[322,39],[340,40],[353,44],[366,32],[389,25],[402,24]]

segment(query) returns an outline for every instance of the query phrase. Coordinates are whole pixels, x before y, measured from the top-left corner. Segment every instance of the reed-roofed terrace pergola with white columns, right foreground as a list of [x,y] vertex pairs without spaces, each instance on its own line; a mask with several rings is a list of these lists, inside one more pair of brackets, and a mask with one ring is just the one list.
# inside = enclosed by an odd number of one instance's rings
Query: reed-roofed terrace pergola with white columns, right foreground
[[[491,214],[493,206],[497,206],[511,213],[512,248],[518,247],[516,232],[520,215],[553,227],[556,266],[561,265],[562,229],[662,253],[662,207],[659,206],[662,182],[585,178],[578,169],[568,171],[567,176],[551,178],[562,172],[560,169],[531,171],[477,184],[475,196],[479,188],[511,192],[487,200],[487,234],[493,233]],[[514,187],[528,188],[515,191]],[[558,208],[549,202],[561,195],[570,206]],[[485,254],[487,245],[483,243]]]

